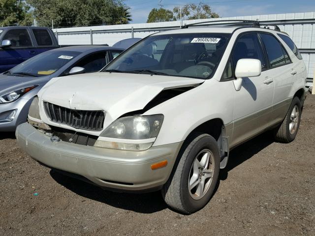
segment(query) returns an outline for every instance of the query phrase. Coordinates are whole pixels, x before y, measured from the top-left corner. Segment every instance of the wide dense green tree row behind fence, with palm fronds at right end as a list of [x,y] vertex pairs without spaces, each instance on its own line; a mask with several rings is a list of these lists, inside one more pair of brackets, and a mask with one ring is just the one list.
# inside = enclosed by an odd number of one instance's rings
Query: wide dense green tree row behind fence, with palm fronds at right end
[[[55,27],[127,24],[124,0],[27,0],[40,26]],[[125,11],[126,9],[126,11]],[[126,13],[129,13],[126,15]]]

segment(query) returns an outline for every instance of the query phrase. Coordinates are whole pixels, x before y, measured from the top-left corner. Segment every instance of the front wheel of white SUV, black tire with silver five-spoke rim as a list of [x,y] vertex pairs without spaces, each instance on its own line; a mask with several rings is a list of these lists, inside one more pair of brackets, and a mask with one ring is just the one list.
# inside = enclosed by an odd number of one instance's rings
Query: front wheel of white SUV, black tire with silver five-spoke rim
[[[205,159],[206,154],[209,159]],[[161,190],[165,203],[183,213],[193,213],[201,209],[209,202],[215,190],[219,171],[217,141],[208,134],[193,133],[183,144],[173,172]],[[199,183],[189,190],[189,184],[193,186],[196,182]],[[204,186],[204,191],[201,186]]]

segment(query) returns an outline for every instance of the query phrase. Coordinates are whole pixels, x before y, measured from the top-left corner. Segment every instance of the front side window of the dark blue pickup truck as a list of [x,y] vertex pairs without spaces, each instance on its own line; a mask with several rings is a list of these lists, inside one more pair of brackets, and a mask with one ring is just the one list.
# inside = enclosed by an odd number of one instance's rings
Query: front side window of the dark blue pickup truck
[[3,39],[11,41],[12,47],[32,47],[30,35],[26,29],[11,29],[7,31]]

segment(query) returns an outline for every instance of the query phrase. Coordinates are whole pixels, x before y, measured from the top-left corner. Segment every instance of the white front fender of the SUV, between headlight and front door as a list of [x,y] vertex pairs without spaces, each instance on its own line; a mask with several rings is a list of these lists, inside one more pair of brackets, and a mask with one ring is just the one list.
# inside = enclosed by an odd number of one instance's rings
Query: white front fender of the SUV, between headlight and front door
[[147,111],[144,115],[164,115],[154,146],[181,142],[193,129],[210,119],[220,118],[224,124],[231,123],[234,91],[232,81],[210,79]]

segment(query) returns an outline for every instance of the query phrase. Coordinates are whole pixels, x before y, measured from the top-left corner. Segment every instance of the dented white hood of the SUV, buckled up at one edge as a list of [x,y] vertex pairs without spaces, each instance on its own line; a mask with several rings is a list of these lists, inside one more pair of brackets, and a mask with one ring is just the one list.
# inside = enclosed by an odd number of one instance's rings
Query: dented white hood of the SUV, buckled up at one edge
[[143,109],[164,89],[203,82],[174,76],[97,72],[53,79],[38,96],[43,101],[70,109],[103,110],[113,120]]

